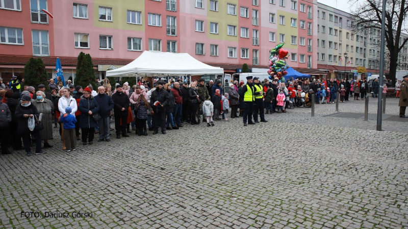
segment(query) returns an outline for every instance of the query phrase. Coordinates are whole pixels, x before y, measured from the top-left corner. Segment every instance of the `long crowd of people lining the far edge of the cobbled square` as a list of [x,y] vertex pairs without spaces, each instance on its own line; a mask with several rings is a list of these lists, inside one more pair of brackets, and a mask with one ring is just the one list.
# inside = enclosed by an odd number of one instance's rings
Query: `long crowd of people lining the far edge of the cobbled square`
[[[10,154],[9,147],[12,147],[24,149],[30,156],[34,145],[35,154],[44,154],[43,148],[53,147],[48,141],[53,139],[53,129],[58,126],[62,149],[70,152],[76,150],[77,141],[82,141],[83,145],[93,144],[95,134],[98,134],[97,142],[103,142],[111,140],[111,131],[117,139],[130,137],[132,131],[138,136],[147,136],[148,131],[154,135],[159,131],[166,134],[186,124],[197,125],[202,121],[211,127],[216,120],[238,117],[243,118],[246,126],[267,122],[265,114],[287,113],[287,109],[311,107],[312,103],[334,103],[337,92],[343,103],[349,101],[350,96],[354,100],[364,100],[369,88],[366,79],[285,81],[285,78],[275,78],[260,81],[257,77],[247,77],[246,80],[246,83],[226,82],[227,86],[223,86],[220,79],[208,84],[203,79],[191,83],[155,80],[150,88],[150,84],[142,80],[130,87],[127,82],[111,85],[105,79],[103,82],[97,80],[95,91],[91,85],[82,88],[70,81],[64,87],[57,78],[56,83],[49,81],[50,93],[45,91],[44,84],[38,85],[38,91],[33,86],[24,86],[21,92],[16,88],[1,89],[2,154]],[[402,83],[398,82],[400,117],[407,117],[407,82],[408,75]],[[380,90],[377,80],[372,87],[372,96],[377,96]],[[313,95],[315,100],[312,100]],[[30,119],[37,120],[33,130]],[[112,119],[114,129],[110,125]]]

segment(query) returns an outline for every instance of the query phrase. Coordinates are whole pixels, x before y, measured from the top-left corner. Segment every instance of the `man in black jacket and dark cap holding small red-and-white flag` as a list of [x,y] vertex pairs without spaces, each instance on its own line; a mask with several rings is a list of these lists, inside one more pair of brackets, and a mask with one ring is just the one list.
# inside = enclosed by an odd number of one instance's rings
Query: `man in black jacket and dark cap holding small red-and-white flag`
[[156,83],[156,90],[151,92],[150,107],[153,109],[152,115],[155,123],[153,134],[159,132],[159,126],[162,134],[166,134],[166,107],[170,103],[170,97],[166,90],[163,89],[163,82]]

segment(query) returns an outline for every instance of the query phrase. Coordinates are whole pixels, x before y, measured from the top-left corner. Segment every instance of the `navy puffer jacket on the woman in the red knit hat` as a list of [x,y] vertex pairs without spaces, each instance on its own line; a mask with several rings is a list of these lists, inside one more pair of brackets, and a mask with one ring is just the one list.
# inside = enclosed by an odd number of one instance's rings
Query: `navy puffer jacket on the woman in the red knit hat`
[[80,128],[95,128],[98,126],[95,119],[88,113],[91,111],[92,114],[96,114],[99,111],[99,104],[92,95],[89,98],[82,95],[78,109],[81,111]]

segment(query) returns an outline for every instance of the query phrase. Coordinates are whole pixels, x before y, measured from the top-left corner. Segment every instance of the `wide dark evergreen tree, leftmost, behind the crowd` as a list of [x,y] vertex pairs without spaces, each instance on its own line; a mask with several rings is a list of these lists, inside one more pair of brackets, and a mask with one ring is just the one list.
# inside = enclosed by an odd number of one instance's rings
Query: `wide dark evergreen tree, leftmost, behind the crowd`
[[45,90],[49,92],[48,74],[41,58],[30,58],[24,66],[24,85],[33,86],[38,91],[38,85],[45,85]]

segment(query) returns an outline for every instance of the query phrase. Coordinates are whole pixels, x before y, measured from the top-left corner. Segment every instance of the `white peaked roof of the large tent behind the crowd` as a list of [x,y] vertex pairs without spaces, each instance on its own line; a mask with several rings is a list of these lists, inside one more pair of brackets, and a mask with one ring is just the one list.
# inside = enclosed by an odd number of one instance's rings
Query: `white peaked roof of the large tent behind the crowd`
[[223,74],[224,69],[212,67],[202,63],[187,53],[162,53],[144,51],[140,57],[131,63],[106,72],[107,77],[122,75],[135,77],[134,74],[146,75],[148,77],[182,76],[182,75],[204,75]]

